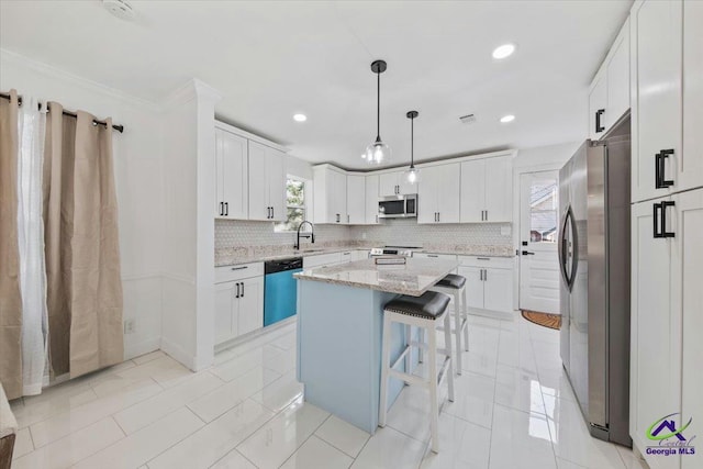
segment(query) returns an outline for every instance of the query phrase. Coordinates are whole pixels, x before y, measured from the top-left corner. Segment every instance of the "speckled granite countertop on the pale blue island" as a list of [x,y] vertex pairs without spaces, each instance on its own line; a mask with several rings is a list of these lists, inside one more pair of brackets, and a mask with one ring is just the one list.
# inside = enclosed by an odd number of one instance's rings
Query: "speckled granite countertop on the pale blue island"
[[294,273],[299,280],[313,280],[389,293],[420,297],[460,263],[445,259],[408,258],[405,265],[379,266],[373,259],[337,266],[316,267]]

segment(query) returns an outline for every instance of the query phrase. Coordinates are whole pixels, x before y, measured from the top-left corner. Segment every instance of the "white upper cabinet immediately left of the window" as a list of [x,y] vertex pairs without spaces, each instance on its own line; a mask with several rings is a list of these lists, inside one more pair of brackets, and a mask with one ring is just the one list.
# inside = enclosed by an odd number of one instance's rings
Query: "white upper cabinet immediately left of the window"
[[249,141],[249,220],[286,219],[283,153]]

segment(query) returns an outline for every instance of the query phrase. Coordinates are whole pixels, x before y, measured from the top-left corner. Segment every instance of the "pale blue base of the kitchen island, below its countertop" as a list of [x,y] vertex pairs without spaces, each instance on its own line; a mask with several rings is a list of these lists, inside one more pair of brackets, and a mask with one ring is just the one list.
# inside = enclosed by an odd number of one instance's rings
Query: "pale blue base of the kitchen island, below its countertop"
[[[298,281],[298,380],[305,401],[373,434],[378,426],[383,304],[398,297],[377,290]],[[394,324],[392,356],[404,330]],[[389,406],[402,381],[391,378]]]

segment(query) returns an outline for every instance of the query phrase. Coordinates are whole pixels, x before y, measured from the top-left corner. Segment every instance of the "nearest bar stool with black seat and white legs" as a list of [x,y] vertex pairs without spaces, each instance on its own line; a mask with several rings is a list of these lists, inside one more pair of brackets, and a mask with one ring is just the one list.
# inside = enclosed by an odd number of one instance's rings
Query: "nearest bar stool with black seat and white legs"
[[[421,297],[402,295],[392,300],[383,306],[383,342],[381,349],[381,402],[379,409],[379,426],[386,426],[386,415],[388,412],[388,379],[390,377],[398,378],[408,384],[420,384],[429,390],[429,431],[432,434],[432,450],[439,451],[438,442],[438,421],[439,404],[438,388],[445,378],[448,378],[449,401],[454,402],[454,373],[451,371],[451,324],[447,306],[449,305],[449,297],[435,291],[427,291]],[[392,323],[405,325],[405,348],[398,359],[390,364],[391,359],[391,326]],[[444,324],[445,345],[446,348],[437,350],[438,325]],[[420,327],[426,331],[428,344],[424,342],[411,340],[411,327]],[[419,377],[410,373],[410,355],[412,347],[427,348],[427,378]],[[445,355],[444,362],[437,370],[437,351]],[[398,371],[395,367],[402,360],[405,360],[405,372]]]

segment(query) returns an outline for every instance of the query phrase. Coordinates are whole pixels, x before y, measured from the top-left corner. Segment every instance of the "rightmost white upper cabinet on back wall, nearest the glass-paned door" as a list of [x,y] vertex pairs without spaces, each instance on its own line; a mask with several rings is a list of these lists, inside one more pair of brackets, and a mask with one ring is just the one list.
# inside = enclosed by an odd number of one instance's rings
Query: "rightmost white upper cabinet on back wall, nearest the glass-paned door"
[[509,223],[513,219],[510,156],[461,163],[460,222]]

